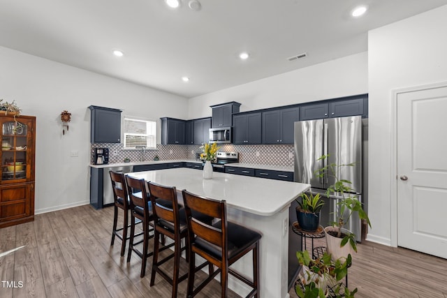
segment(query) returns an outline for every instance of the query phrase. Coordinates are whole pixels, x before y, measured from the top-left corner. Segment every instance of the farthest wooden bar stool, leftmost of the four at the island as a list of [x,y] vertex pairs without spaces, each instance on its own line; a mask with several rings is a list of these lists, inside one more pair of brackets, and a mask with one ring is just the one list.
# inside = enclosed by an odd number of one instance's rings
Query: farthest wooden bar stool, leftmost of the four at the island
[[[113,198],[115,204],[113,205],[113,228],[112,228],[112,241],[110,246],[115,243],[115,236],[121,239],[121,256],[124,255],[126,251],[126,241],[130,237],[127,237],[128,228],[131,227],[129,224],[129,195],[126,188],[126,178],[122,172],[109,171],[110,179],[112,180],[113,188]],[[121,209],[124,213],[124,222],[122,228],[117,228],[118,222],[118,211]],[[141,223],[138,221],[137,223]],[[119,233],[121,232],[122,233]]]

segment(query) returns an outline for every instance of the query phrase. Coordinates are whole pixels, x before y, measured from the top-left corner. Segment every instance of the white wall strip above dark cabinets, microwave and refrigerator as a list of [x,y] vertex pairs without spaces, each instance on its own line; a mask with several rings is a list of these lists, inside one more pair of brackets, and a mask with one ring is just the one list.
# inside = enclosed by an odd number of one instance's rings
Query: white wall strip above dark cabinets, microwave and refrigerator
[[210,105],[228,101],[242,103],[245,112],[367,92],[367,52],[362,52],[190,98],[189,118],[209,117]]

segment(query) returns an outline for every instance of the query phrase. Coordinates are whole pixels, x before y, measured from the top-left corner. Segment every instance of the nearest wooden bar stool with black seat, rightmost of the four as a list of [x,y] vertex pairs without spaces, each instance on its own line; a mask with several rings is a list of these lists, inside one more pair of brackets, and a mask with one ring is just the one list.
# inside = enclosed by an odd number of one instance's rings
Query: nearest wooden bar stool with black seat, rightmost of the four
[[[228,273],[240,279],[253,290],[247,297],[259,296],[259,239],[261,234],[242,225],[227,221],[226,201],[212,200],[182,191],[186,222],[188,224],[189,278],[187,297],[194,297],[207,283],[221,274],[221,297],[227,297]],[[212,225],[204,223],[193,211],[217,218]],[[230,268],[234,262],[253,251],[253,281]],[[218,269],[194,289],[195,255],[200,255]],[[205,264],[207,263],[205,262]]]

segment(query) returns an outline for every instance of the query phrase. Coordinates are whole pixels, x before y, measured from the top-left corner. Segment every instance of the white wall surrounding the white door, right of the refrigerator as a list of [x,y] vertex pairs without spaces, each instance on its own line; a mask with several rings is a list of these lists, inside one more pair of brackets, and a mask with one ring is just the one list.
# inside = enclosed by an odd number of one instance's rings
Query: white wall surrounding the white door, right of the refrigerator
[[447,81],[446,36],[447,6],[369,32],[369,240],[397,245],[392,91]]

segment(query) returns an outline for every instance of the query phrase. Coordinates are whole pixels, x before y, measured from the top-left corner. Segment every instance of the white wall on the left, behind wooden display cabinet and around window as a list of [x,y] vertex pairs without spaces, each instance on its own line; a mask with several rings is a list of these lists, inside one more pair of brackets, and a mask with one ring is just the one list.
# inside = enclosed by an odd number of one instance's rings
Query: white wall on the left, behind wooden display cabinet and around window
[[[188,100],[0,47],[0,98],[36,116],[36,213],[89,202],[89,105],[157,119],[187,118]],[[60,113],[71,112],[62,135]],[[157,137],[160,142],[160,128]],[[70,151],[79,152],[78,158]]]

